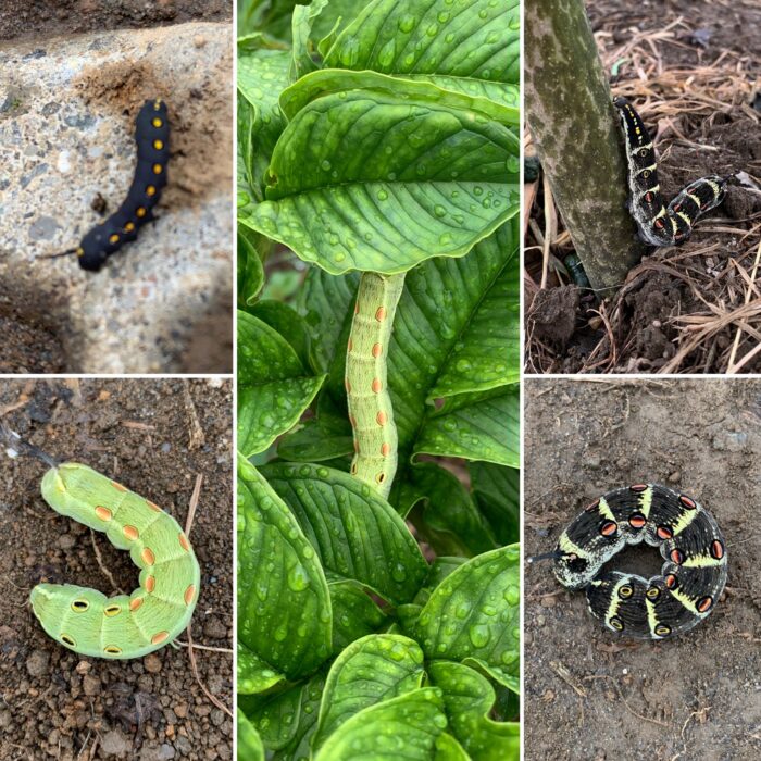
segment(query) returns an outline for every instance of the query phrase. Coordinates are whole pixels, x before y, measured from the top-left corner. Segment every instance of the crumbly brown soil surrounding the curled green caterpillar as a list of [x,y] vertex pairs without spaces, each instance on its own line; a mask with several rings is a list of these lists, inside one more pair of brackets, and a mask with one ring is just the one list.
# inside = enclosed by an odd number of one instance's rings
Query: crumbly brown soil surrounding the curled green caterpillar
[[[207,688],[232,706],[230,383],[5,379],[0,414],[46,451],[113,475],[182,525],[196,475],[203,476],[190,531],[201,565],[192,636],[223,649],[196,649],[196,661]],[[48,508],[39,495],[43,473],[26,457],[0,459],[0,758],[232,759],[232,720],[203,694],[186,647],[103,661],[42,632],[28,604],[41,579],[113,594],[105,569],[123,589],[137,585],[127,553]]]

